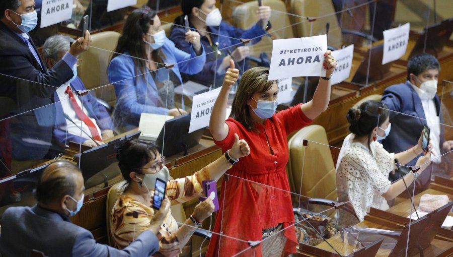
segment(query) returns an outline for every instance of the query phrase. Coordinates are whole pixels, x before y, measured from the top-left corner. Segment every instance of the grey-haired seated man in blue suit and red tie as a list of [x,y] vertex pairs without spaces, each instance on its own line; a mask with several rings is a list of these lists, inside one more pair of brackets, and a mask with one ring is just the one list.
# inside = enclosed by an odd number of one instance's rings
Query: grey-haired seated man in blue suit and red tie
[[[46,40],[42,52],[47,68],[51,69],[61,59],[72,42],[74,42],[72,38],[63,35],[54,35]],[[77,64],[72,67],[72,71],[74,77],[53,93],[56,103],[54,138],[63,146],[69,141],[91,147],[96,147],[96,143],[104,144],[102,141],[113,137],[112,119],[107,109],[99,104],[90,92],[82,97],[77,96],[76,90],[86,90],[86,88],[77,77]],[[63,113],[67,114],[75,124],[65,118]]]

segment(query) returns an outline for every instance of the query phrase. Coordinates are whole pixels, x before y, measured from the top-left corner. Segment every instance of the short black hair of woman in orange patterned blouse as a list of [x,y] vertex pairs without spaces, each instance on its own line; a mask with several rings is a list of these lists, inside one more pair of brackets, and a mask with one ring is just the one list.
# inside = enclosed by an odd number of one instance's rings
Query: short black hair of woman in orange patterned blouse
[[139,172],[146,163],[156,159],[159,153],[159,146],[154,142],[141,139],[126,141],[118,150],[116,158],[118,166],[124,179],[129,183],[132,171]]

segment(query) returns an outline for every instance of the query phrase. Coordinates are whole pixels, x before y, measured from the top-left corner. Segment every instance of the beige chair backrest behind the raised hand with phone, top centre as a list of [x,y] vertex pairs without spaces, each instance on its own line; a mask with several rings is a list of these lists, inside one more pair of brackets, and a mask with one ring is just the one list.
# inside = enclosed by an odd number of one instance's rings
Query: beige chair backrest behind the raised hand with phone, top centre
[[[275,36],[274,39],[293,38],[294,33],[289,26],[289,18],[286,12],[285,2],[281,0],[266,0],[264,5],[272,9],[270,22],[272,29],[269,31]],[[242,29],[248,29],[258,22],[256,11],[258,10],[258,1],[250,1],[237,6],[233,11],[233,21],[235,26]],[[287,27],[285,29],[281,29]],[[275,32],[272,32],[275,30]],[[250,46],[250,55],[259,56],[261,52],[266,52],[272,56],[272,38],[264,36],[260,42]]]

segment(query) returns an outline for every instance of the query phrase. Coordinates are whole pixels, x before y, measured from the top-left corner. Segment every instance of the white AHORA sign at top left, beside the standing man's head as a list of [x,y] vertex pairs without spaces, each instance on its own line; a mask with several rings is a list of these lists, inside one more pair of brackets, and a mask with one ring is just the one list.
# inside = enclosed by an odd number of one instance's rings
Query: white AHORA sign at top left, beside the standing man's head
[[72,16],[72,0],[43,0],[41,28],[69,20]]

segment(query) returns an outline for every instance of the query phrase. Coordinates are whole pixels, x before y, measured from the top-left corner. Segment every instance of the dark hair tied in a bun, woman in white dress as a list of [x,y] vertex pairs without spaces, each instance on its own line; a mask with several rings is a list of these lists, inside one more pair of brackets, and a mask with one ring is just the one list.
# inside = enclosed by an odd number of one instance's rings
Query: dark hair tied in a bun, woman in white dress
[[[381,109],[381,114],[379,109]],[[374,127],[381,126],[388,117],[387,105],[374,100],[363,102],[358,108],[350,108],[348,114],[346,114],[349,121],[349,131],[357,137],[368,136],[368,150]]]

